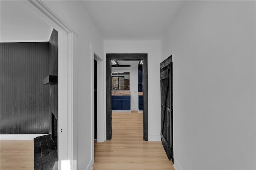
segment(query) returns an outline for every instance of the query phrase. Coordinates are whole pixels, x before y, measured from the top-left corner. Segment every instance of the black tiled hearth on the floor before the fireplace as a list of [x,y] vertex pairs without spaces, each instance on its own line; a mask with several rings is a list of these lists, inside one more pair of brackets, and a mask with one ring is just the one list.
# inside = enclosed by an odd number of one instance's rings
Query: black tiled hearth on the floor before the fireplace
[[56,141],[51,135],[34,138],[34,170],[58,170]]

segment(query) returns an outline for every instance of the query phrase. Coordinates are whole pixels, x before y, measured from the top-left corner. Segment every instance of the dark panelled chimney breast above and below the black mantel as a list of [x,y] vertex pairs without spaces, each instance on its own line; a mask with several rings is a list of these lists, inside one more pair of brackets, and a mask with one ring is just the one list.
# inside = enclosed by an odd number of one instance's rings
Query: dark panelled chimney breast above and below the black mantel
[[[49,56],[50,66],[49,74],[58,76],[58,31],[53,29],[52,35],[49,40]],[[58,120],[58,84],[45,85],[50,87],[50,98],[49,98],[49,111],[50,115],[53,113],[55,118]],[[50,116],[49,122],[52,122]],[[50,126],[49,133],[52,133],[52,127]]]

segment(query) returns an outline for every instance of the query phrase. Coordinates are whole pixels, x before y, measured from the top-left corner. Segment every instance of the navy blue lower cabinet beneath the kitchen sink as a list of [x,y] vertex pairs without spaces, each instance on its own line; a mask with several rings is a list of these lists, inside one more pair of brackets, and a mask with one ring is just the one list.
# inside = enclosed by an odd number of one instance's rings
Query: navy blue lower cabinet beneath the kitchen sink
[[130,110],[131,96],[112,96],[112,110]]

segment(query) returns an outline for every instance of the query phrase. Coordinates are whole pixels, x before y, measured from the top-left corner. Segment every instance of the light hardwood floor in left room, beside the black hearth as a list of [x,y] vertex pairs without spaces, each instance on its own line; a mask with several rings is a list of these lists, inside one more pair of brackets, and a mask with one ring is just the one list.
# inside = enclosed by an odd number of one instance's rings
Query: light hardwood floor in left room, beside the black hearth
[[0,141],[1,170],[33,170],[34,141]]

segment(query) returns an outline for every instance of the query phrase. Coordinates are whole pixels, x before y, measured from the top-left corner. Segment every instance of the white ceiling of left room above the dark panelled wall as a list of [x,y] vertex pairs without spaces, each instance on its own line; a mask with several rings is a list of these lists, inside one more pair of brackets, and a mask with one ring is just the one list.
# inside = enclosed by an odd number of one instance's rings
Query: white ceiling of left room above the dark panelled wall
[[52,27],[19,1],[0,1],[0,41],[49,41]]

